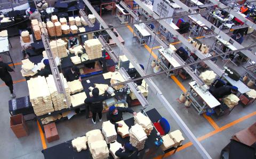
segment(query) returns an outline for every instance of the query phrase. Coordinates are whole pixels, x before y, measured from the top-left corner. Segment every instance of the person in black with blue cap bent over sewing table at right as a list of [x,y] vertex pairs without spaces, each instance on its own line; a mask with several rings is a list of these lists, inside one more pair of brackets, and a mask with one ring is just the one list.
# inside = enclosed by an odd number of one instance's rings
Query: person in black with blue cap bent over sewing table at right
[[238,88],[236,86],[221,86],[214,90],[209,90],[210,93],[216,98],[221,101],[221,98],[230,94],[236,94]]

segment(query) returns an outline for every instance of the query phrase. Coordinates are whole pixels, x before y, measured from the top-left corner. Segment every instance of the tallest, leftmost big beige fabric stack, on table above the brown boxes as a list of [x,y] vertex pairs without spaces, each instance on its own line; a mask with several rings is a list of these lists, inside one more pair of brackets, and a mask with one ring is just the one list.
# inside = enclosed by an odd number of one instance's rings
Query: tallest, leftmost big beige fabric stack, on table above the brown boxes
[[30,102],[37,116],[54,111],[51,94],[45,77],[38,76],[27,81]]

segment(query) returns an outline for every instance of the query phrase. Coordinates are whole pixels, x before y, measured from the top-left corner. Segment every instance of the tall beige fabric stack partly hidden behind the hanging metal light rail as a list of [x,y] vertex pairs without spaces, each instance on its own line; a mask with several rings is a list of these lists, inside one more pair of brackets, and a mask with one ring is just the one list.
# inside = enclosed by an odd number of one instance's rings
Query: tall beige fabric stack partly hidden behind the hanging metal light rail
[[[55,111],[60,111],[63,108],[68,108],[69,106],[71,106],[71,97],[70,97],[70,91],[68,89],[67,81],[63,77],[62,73],[60,73],[60,76],[64,83],[67,102],[64,102],[64,100],[66,99],[65,94],[58,93],[52,74],[50,74],[49,77],[46,78]],[[69,105],[67,103],[69,103]]]

